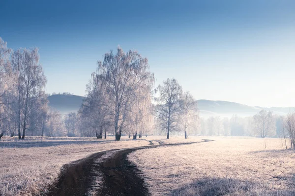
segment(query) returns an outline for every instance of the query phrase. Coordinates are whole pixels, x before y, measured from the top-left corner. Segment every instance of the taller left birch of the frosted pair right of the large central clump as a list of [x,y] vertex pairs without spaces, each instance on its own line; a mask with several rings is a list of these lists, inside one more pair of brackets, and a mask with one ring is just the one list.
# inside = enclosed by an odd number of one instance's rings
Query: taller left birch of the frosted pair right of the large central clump
[[159,97],[156,98],[156,116],[161,128],[167,131],[167,139],[171,131],[179,130],[178,124],[181,115],[182,87],[176,79],[167,79],[157,87]]

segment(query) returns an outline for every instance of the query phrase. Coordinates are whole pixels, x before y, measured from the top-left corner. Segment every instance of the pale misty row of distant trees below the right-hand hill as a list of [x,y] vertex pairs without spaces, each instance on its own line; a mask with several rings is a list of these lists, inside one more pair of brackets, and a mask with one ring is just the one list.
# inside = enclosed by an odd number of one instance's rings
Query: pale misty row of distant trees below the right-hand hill
[[286,148],[288,140],[290,146],[295,147],[295,113],[276,116],[271,111],[261,110],[253,117],[201,118],[198,125],[193,132],[195,135],[280,137]]

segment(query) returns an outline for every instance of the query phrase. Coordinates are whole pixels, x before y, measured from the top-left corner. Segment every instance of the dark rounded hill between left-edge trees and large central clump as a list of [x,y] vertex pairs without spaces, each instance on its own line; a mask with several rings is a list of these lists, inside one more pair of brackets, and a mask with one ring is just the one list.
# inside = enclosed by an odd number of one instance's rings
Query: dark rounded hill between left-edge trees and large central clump
[[62,114],[77,112],[84,98],[77,95],[51,95],[48,96],[48,105],[59,110]]

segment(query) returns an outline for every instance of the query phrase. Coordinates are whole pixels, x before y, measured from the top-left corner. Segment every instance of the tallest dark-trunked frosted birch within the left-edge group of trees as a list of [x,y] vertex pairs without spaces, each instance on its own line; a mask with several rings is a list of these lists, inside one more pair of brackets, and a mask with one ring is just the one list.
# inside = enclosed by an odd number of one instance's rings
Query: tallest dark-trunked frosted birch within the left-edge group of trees
[[29,116],[35,112],[33,106],[46,84],[42,66],[39,64],[38,49],[18,49],[13,52],[12,68],[17,91],[18,136],[19,139],[25,139]]

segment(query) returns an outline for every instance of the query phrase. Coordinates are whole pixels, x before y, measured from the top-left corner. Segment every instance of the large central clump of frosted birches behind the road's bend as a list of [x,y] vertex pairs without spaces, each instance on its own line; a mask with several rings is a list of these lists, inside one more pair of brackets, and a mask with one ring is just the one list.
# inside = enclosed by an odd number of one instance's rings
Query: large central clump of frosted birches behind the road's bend
[[80,108],[81,128],[102,138],[113,132],[116,141],[122,132],[142,137],[151,129],[151,98],[154,75],[149,72],[148,59],[137,51],[104,55],[97,62],[96,73],[91,74],[87,96]]

